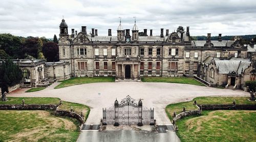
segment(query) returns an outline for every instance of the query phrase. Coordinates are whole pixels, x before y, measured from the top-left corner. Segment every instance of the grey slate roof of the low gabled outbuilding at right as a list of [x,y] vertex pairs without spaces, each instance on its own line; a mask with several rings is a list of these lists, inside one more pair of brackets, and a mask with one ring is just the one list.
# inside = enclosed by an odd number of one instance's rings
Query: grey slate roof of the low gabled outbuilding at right
[[251,62],[243,60],[216,60],[216,67],[219,69],[220,74],[228,74],[229,72],[235,71],[241,74],[242,69],[248,68]]

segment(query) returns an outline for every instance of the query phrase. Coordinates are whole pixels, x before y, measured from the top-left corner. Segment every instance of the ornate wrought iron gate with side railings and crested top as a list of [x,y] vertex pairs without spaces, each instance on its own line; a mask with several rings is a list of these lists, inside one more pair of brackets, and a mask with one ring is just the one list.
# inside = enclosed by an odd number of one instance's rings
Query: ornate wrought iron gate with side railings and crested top
[[122,99],[120,103],[116,100],[114,106],[108,109],[103,108],[103,125],[154,125],[154,108],[148,109],[142,106],[142,101],[138,104],[129,95]]

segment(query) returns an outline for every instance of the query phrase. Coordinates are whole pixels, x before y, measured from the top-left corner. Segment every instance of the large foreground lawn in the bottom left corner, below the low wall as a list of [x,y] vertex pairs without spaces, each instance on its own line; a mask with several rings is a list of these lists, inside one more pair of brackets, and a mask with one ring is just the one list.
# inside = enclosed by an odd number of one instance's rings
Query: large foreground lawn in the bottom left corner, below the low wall
[[42,110],[0,110],[0,141],[76,141],[79,122]]

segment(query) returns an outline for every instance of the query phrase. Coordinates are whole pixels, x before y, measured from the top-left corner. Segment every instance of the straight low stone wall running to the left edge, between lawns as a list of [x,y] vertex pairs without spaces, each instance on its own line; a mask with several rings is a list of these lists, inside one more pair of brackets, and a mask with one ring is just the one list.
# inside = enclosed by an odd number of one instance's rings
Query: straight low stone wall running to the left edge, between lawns
[[56,110],[56,104],[0,104],[2,110]]

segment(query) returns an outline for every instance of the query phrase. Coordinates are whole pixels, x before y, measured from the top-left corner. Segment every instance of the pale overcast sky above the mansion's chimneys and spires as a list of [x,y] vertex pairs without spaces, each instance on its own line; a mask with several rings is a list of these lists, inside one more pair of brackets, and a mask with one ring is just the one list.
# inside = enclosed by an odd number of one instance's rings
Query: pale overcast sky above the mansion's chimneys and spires
[[112,29],[114,36],[118,17],[123,29],[132,29],[134,16],[139,30],[148,29],[149,34],[153,29],[153,35],[160,35],[161,28],[174,31],[179,25],[190,26],[191,36],[256,34],[255,0],[0,0],[0,5],[0,33],[24,37],[58,37],[62,15],[69,34],[85,25],[88,33],[95,28],[99,36],[107,36]]

